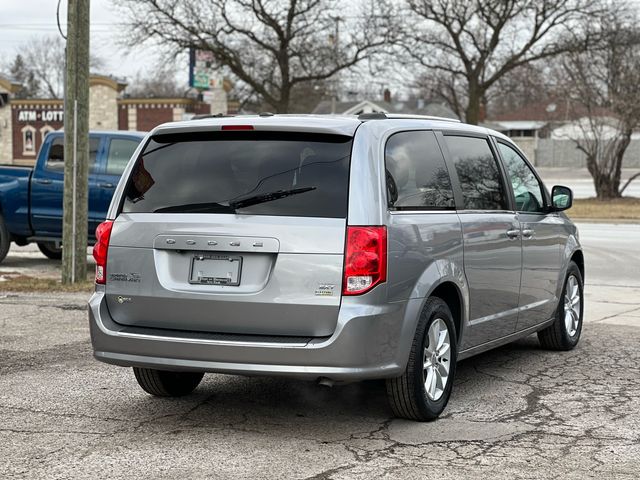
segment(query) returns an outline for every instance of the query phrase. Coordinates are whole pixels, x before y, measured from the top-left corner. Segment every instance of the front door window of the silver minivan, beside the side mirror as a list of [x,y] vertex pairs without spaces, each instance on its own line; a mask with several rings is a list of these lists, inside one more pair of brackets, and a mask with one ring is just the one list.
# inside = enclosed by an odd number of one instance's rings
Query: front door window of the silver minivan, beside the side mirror
[[544,212],[542,186],[531,168],[516,150],[504,143],[498,143],[500,155],[516,197],[516,210],[519,212]]

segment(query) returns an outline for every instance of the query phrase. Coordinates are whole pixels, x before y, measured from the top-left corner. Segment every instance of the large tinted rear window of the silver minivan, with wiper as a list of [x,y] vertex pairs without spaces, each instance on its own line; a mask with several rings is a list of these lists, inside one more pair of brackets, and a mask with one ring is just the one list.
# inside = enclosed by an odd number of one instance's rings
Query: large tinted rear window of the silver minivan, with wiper
[[346,218],[351,143],[294,132],[157,135],[136,161],[122,211]]

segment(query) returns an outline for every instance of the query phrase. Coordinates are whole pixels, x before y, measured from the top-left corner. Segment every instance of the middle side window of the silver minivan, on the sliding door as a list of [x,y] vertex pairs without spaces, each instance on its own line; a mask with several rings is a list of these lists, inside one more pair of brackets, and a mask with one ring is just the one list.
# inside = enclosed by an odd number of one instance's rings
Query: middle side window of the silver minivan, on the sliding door
[[444,137],[453,160],[466,210],[507,210],[507,196],[496,159],[483,138]]

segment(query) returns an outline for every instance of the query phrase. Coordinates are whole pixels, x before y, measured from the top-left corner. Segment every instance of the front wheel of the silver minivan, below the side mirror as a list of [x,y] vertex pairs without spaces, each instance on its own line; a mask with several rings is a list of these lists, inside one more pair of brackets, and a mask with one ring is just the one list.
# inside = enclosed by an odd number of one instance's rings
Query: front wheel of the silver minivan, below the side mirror
[[558,302],[555,321],[538,332],[540,345],[548,350],[571,350],[580,340],[584,317],[584,285],[580,269],[569,263]]

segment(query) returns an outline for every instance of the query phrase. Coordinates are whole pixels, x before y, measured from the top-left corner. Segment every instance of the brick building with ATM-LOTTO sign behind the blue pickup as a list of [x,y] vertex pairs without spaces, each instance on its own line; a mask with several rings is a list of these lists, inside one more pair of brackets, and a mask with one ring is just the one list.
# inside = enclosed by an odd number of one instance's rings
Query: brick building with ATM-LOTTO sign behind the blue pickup
[[[227,85],[225,85],[227,87]],[[193,115],[227,113],[226,90],[208,102],[192,98],[127,98],[126,83],[89,78],[89,129],[148,131]],[[0,77],[0,164],[32,165],[45,135],[64,125],[61,99],[17,99],[21,86]]]

